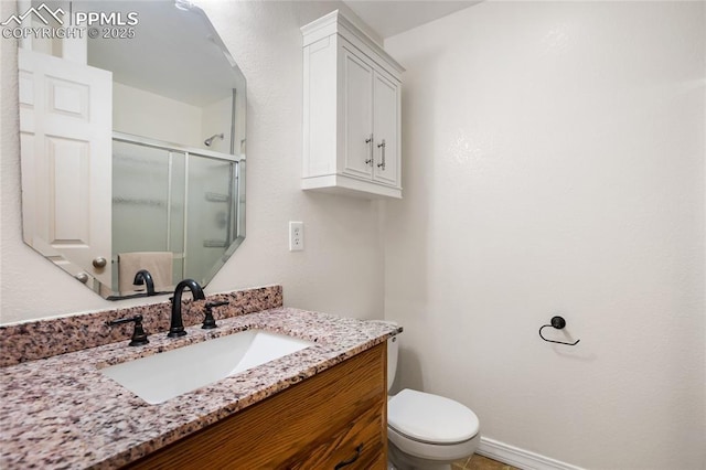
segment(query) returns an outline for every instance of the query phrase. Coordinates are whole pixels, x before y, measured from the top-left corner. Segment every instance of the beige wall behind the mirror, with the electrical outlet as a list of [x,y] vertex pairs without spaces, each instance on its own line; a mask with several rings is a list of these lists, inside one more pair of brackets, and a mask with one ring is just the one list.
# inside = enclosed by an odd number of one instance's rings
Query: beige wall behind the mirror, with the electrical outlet
[[[383,317],[376,203],[304,193],[299,28],[338,2],[200,2],[247,77],[247,238],[207,292],[282,284],[285,302],[359,318]],[[0,17],[13,2],[0,2]],[[22,243],[17,55],[0,40],[0,322],[129,306],[88,291]],[[303,221],[306,250],[289,253],[288,222]]]

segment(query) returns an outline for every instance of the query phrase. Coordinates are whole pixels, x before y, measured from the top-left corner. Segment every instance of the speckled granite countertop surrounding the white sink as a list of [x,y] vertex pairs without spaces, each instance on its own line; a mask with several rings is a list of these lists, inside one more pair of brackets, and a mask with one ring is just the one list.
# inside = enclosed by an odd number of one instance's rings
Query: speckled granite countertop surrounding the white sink
[[[2,368],[0,468],[118,468],[384,342],[383,321],[277,308],[218,321],[188,335],[150,335]],[[215,384],[149,405],[99,368],[248,329],[314,342]]]

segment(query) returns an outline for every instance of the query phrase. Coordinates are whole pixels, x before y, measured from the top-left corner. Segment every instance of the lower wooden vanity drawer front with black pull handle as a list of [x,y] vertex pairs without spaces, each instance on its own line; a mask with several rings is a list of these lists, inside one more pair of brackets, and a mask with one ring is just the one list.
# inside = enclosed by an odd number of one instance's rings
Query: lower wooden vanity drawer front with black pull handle
[[291,469],[384,469],[386,427],[378,409],[371,409],[345,426],[328,442],[311,450]]

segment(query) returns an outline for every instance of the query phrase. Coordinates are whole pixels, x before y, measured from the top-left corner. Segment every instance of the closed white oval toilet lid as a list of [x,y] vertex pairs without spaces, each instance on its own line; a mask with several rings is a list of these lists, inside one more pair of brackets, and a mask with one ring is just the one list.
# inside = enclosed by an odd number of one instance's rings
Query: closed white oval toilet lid
[[387,424],[411,439],[457,444],[478,434],[478,416],[450,398],[405,388],[387,402]]

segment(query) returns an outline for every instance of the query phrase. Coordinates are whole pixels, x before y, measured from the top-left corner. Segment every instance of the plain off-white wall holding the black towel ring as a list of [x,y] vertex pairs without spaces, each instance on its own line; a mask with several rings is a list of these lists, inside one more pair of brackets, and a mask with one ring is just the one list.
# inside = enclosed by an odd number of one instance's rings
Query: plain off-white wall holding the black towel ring
[[575,466],[704,467],[704,7],[483,2],[385,42],[402,385]]

